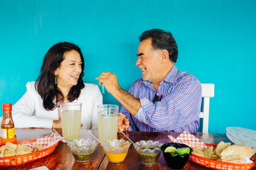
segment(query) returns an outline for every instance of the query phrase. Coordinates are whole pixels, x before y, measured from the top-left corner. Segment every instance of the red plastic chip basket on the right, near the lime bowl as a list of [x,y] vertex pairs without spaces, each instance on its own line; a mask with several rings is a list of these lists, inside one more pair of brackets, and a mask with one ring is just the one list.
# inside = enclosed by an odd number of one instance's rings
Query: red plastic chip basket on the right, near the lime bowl
[[[213,146],[213,147],[217,146],[217,144],[206,144],[206,145]],[[190,161],[195,162],[199,165],[212,168],[215,170],[251,170],[254,166],[256,166],[256,160],[250,164],[238,164],[238,163],[230,163],[230,162],[207,159],[201,156],[197,156],[195,154],[191,154],[189,159]]]

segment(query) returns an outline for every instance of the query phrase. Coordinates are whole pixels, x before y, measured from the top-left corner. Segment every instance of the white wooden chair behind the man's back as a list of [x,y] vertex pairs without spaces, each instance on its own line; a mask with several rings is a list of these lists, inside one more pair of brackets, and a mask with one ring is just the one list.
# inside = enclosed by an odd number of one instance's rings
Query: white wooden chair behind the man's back
[[202,111],[199,117],[202,118],[202,133],[208,133],[210,97],[214,97],[214,84],[202,83]]

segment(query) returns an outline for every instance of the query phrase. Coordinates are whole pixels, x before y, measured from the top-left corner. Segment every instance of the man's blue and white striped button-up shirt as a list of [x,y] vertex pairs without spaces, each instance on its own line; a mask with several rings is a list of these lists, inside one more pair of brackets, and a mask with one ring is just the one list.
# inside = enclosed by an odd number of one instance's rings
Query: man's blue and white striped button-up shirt
[[132,131],[195,133],[199,127],[201,83],[175,66],[160,83],[153,103],[155,89],[151,82],[137,79],[129,93],[140,100],[142,107],[133,116],[123,106],[120,110],[129,120]]

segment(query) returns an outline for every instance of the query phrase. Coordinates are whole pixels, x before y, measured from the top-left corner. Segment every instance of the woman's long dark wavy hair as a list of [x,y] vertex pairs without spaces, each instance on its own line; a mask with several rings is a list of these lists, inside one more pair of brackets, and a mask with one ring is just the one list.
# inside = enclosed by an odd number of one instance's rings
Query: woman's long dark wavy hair
[[52,46],[46,53],[44,62],[35,84],[37,92],[43,99],[43,105],[46,110],[54,110],[57,107],[57,101],[64,101],[64,95],[55,85],[55,70],[60,67],[64,60],[64,54],[68,51],[75,50],[79,52],[82,61],[82,72],[78,78],[77,85],[73,85],[68,93],[68,101],[73,102],[84,88],[82,77],[84,75],[84,60],[80,48],[73,43],[59,42]]

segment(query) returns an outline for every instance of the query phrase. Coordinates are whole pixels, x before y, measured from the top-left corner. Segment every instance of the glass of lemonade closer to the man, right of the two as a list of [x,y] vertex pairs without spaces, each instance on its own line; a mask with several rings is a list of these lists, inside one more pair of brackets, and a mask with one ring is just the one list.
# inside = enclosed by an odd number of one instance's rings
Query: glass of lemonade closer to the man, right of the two
[[119,106],[101,104],[98,106],[98,137],[101,142],[117,139]]

